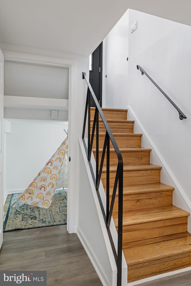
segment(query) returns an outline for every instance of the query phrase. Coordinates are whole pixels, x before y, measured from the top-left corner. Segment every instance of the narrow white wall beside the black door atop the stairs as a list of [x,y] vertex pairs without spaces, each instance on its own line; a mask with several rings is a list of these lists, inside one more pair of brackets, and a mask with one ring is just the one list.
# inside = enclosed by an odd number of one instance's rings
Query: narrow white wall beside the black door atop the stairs
[[104,41],[103,107],[125,108],[127,106],[124,94],[127,93],[128,20],[129,10]]

